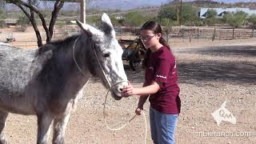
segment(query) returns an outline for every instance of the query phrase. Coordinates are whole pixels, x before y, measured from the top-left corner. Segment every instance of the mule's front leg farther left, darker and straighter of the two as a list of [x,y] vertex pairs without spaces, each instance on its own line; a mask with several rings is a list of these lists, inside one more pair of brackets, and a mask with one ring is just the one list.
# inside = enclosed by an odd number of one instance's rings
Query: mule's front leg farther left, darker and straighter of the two
[[51,114],[38,114],[38,144],[46,144],[50,134]]

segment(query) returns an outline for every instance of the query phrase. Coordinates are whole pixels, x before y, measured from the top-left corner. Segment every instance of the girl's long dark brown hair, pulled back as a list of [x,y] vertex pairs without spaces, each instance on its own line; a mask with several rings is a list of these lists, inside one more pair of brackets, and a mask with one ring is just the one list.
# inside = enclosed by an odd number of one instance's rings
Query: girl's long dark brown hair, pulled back
[[[154,21],[145,22],[144,25],[142,26],[141,30],[152,30],[154,32],[154,34],[159,34],[159,33],[162,34],[161,26],[158,24],[158,22],[154,22]],[[159,38],[159,42],[163,46],[166,46],[170,50],[170,46],[168,45],[168,43],[166,42],[166,40],[164,38],[162,38],[162,37]],[[150,54],[151,54],[151,50],[147,49],[146,54],[144,55],[144,59],[142,61],[143,69],[146,69],[146,67],[148,66]]]

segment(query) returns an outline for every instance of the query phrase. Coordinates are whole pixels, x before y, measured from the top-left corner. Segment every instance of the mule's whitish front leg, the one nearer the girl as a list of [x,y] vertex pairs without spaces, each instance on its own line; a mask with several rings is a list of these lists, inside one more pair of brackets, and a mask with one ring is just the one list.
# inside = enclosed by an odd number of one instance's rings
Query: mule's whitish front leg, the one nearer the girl
[[66,114],[63,118],[54,119],[54,137],[53,144],[63,144],[66,125],[69,122],[70,113]]

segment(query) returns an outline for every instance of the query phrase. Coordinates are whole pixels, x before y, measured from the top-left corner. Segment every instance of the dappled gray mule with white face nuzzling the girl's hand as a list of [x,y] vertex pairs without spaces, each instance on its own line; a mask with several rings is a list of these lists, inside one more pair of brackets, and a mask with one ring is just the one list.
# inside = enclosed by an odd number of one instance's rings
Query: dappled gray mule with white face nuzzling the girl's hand
[[37,116],[37,143],[47,143],[54,122],[52,142],[63,143],[70,112],[91,76],[112,86],[114,99],[121,99],[127,77],[110,18],[102,15],[100,29],[77,23],[81,34],[39,49],[0,45],[0,143],[7,143],[3,129],[8,113]]

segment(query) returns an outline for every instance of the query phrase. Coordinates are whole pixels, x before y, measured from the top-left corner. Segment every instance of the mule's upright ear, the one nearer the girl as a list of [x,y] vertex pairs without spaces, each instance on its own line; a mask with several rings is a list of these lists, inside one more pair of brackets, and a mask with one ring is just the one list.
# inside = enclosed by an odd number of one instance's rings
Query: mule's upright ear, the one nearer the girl
[[114,34],[114,26],[106,13],[102,14],[102,30],[105,34]]

